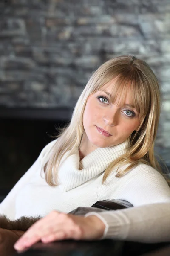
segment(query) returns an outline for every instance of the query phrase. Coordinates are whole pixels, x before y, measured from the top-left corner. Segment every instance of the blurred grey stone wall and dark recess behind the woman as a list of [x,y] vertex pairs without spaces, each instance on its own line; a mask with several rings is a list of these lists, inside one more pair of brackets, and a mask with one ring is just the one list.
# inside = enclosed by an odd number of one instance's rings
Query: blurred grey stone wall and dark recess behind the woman
[[170,0],[0,0],[0,195],[69,122],[91,73],[131,54],[159,79],[170,168]]

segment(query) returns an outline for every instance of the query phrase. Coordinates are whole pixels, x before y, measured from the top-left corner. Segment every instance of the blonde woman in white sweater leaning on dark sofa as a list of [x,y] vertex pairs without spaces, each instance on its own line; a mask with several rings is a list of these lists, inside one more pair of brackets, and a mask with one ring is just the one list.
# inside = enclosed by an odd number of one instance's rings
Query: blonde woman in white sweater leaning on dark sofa
[[[154,209],[156,218],[162,217],[162,208],[170,206],[170,189],[153,154],[159,114],[159,84],[144,61],[125,55],[99,67],[79,97],[68,127],[42,150],[0,205],[0,212],[11,219],[47,215],[15,248],[40,239],[156,241],[155,231],[149,236],[138,232],[139,237],[134,230],[128,232],[132,220],[142,223],[139,230],[146,229],[148,212],[153,218]],[[104,199],[124,199],[134,207],[85,217],[66,214]]]

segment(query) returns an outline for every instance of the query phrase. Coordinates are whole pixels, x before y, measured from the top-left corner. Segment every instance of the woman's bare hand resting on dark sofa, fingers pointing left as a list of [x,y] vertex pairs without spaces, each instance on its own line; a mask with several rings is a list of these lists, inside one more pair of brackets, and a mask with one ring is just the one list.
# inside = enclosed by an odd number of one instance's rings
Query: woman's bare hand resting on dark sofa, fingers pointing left
[[48,243],[63,239],[99,239],[104,230],[105,224],[95,215],[85,218],[53,211],[34,223],[17,241],[14,248],[23,250],[39,240]]

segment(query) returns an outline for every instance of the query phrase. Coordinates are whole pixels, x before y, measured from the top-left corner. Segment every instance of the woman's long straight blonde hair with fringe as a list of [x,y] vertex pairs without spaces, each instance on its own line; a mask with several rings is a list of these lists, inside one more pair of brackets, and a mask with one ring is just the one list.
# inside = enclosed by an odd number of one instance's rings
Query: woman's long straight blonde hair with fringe
[[45,179],[51,186],[57,185],[57,170],[62,157],[71,155],[79,148],[84,133],[83,113],[88,97],[106,83],[116,78],[113,87],[114,99],[124,100],[130,90],[131,102],[139,112],[141,125],[129,138],[126,153],[114,160],[105,170],[103,181],[116,166],[128,163],[126,168],[117,168],[116,177],[122,177],[139,161],[161,171],[154,157],[154,141],[159,124],[160,90],[158,80],[145,61],[134,56],[123,55],[100,66],[91,76],[74,108],[71,122],[57,136],[57,143],[44,163]]

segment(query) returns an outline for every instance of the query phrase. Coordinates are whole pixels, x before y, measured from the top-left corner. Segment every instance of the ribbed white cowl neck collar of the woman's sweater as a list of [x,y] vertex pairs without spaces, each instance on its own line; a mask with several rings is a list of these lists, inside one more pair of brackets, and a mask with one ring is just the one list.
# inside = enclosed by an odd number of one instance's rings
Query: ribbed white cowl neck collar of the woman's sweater
[[77,149],[74,154],[62,161],[59,166],[60,189],[63,192],[67,192],[102,174],[113,160],[125,154],[127,143],[128,140],[113,147],[96,148],[81,161],[79,150]]

